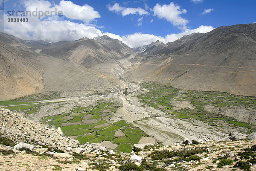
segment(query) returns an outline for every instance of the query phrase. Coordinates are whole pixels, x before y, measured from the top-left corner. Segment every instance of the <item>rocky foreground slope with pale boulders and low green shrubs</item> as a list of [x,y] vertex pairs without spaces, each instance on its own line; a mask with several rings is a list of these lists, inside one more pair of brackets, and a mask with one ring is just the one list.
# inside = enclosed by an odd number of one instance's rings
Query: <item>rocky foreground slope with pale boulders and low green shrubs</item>
[[[184,139],[175,145],[135,144],[131,153],[79,144],[60,129],[0,108],[0,170],[196,171],[255,170],[256,132],[230,133],[219,141]],[[210,138],[210,137],[209,137]]]

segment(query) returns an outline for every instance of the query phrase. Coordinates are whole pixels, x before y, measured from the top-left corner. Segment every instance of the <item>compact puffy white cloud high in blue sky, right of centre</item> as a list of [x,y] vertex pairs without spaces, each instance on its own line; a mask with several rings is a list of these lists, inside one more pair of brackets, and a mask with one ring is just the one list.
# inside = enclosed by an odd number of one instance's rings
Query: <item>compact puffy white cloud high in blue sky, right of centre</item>
[[182,26],[180,28],[186,29],[188,20],[180,17],[180,14],[186,13],[186,9],[180,9],[180,6],[170,3],[169,5],[159,5],[158,3],[153,8],[154,16],[164,18],[171,22],[174,26]]

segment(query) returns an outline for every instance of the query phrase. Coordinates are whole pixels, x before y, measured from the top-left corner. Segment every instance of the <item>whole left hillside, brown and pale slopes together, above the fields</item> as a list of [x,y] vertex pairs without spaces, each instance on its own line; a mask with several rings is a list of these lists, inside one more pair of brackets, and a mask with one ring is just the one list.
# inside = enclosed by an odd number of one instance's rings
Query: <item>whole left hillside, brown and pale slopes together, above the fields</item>
[[[26,41],[6,34],[0,36],[0,100],[49,91],[60,91],[60,96],[81,96],[127,87],[127,84],[109,73],[93,71],[84,65],[38,54],[35,52],[36,48],[27,46],[29,43]],[[99,47],[103,46],[94,40],[89,41],[93,41]],[[53,46],[60,46],[62,43],[55,43]],[[94,47],[93,44],[89,45]],[[97,52],[100,50],[95,53]],[[76,57],[79,58],[77,55]]]

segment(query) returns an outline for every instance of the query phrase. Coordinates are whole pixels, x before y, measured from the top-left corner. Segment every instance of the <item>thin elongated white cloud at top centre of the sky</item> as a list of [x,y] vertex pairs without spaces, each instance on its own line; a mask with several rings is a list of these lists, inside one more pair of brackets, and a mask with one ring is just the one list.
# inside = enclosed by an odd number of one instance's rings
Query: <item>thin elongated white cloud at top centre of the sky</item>
[[145,9],[142,9],[140,7],[138,8],[127,8],[119,6],[119,3],[115,3],[113,6],[108,5],[108,10],[111,12],[116,13],[122,13],[122,16],[129,15],[129,14],[139,14],[139,15],[148,15],[149,12],[147,12]]

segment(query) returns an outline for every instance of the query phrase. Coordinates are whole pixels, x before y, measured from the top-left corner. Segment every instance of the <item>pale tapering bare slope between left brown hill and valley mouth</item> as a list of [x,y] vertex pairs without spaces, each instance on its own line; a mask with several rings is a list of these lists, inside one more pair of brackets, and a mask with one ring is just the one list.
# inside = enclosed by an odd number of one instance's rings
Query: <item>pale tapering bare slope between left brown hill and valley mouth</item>
[[111,88],[126,87],[123,81],[108,73],[89,70],[82,65],[64,61],[49,55],[38,55],[31,59],[44,68],[44,89],[64,91],[61,96],[82,96]]

